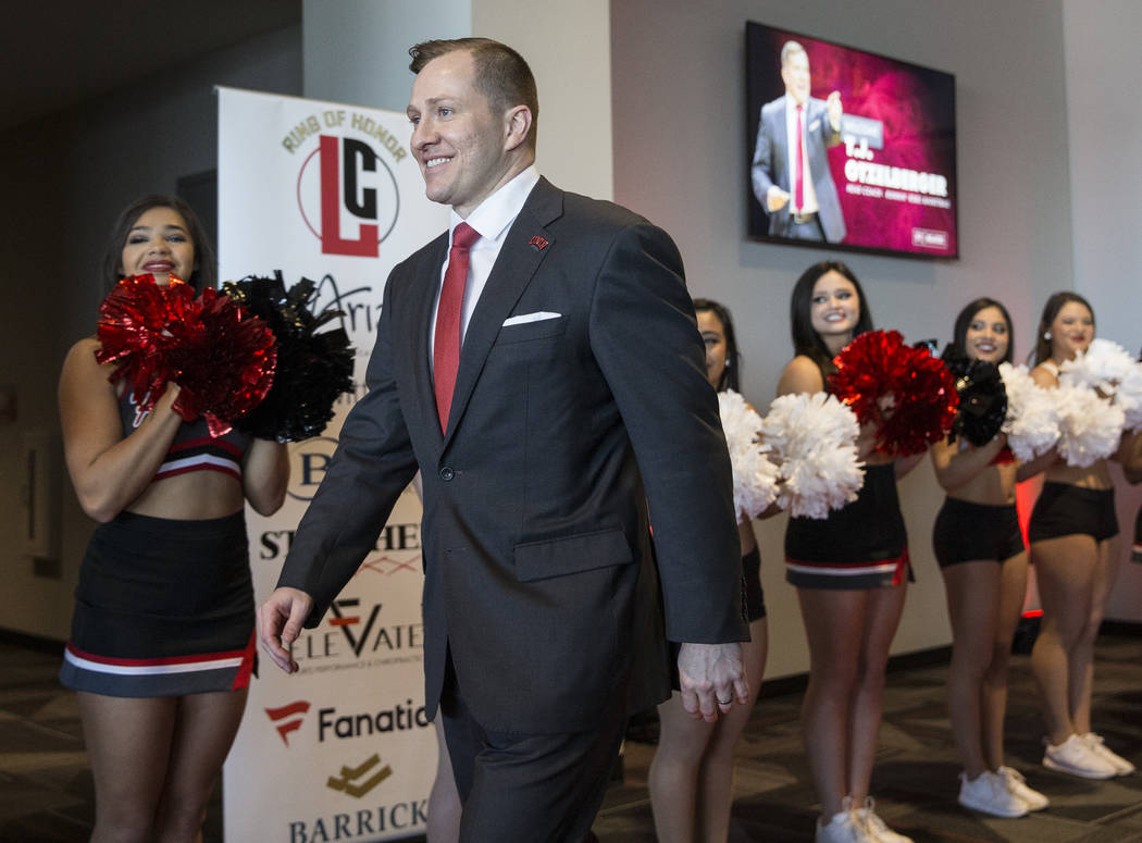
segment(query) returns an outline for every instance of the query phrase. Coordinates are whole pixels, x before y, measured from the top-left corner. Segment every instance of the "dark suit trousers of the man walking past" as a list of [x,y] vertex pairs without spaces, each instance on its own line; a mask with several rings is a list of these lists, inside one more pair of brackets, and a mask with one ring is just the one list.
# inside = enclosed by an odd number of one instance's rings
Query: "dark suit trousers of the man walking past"
[[465,705],[449,656],[440,713],[464,805],[460,843],[589,838],[622,742],[625,699],[620,689],[586,732],[488,731]]

